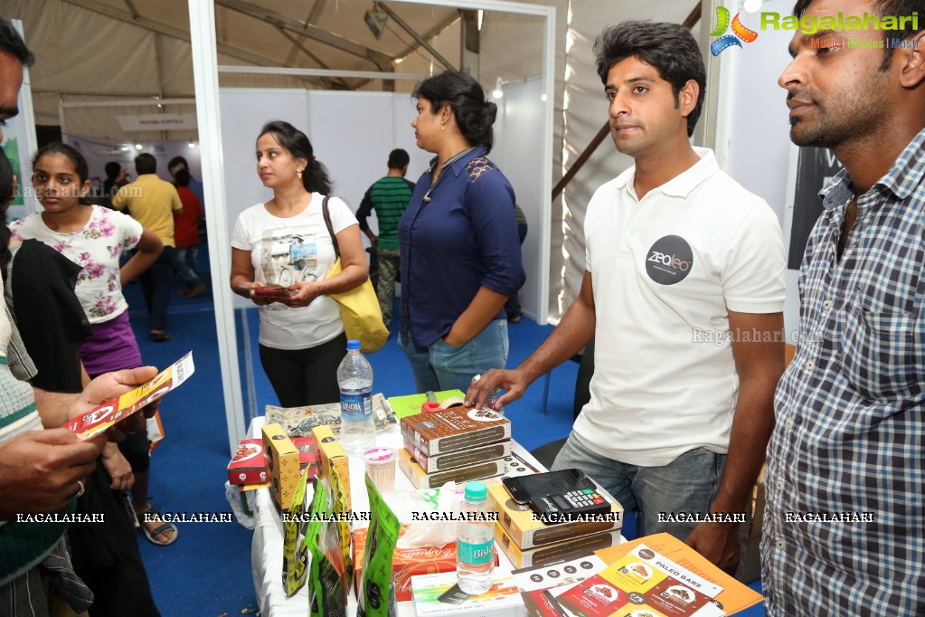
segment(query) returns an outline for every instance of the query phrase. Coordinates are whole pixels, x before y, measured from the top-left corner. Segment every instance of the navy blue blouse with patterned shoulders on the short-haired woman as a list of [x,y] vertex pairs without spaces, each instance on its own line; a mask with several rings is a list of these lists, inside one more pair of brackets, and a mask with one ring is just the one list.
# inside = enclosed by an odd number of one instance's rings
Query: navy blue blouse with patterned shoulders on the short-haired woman
[[450,333],[480,287],[511,296],[526,279],[513,188],[483,152],[463,154],[431,189],[435,157],[399,221],[401,336],[422,347]]

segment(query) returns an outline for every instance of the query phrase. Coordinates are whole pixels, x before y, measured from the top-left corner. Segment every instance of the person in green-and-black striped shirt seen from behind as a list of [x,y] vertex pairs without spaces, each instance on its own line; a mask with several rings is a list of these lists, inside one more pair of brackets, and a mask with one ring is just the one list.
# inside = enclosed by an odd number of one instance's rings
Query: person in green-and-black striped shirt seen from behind
[[[401,215],[404,214],[414,184],[405,179],[408,173],[408,163],[411,157],[401,148],[388,153],[388,174],[377,179],[369,187],[356,211],[356,219],[360,223],[360,230],[366,234],[370,243],[376,250],[376,260],[379,265],[379,276],[376,280],[376,296],[379,299],[379,308],[382,310],[382,321],[386,327],[392,323],[392,305],[395,297],[395,280],[399,274],[399,236],[398,226]],[[376,209],[376,219],[379,224],[379,235],[373,233],[366,223],[366,217]]]

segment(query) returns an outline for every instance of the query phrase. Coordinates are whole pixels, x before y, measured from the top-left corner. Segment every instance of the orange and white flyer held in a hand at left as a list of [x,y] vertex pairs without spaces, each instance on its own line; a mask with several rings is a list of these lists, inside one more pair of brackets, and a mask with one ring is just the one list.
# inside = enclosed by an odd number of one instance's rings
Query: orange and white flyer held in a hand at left
[[196,370],[192,364],[192,352],[187,353],[174,364],[167,366],[151,381],[126,392],[117,399],[105,401],[102,405],[69,421],[65,428],[79,438],[93,438],[125,420],[132,413],[142,410],[149,403],[157,401],[167,392],[177,388]]

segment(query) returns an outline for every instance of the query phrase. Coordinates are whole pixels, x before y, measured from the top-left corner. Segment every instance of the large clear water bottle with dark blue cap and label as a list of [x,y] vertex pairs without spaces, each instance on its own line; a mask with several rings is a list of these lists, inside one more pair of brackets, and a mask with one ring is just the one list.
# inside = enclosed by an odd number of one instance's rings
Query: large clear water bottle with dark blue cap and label
[[347,341],[347,355],[338,366],[340,389],[340,445],[351,454],[376,441],[373,421],[373,367],[360,353],[360,341]]

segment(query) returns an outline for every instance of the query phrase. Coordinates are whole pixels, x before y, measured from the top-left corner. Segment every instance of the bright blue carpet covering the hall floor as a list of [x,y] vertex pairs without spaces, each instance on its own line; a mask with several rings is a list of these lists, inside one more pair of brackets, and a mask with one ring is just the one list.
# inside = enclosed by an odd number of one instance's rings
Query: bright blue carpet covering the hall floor
[[[205,254],[203,245],[201,260]],[[207,274],[203,274],[203,279],[208,281]],[[211,281],[208,284],[211,288]],[[181,287],[179,279],[174,287],[175,290]],[[162,401],[166,438],[152,455],[149,493],[166,512],[229,512],[224,495],[228,438],[211,289],[195,299],[174,293],[166,325],[173,339],[163,343],[151,342],[147,337],[147,317],[140,286],[137,283],[129,285],[125,295],[145,364],[161,368],[190,350],[194,352],[196,363],[196,373],[191,380]],[[242,383],[246,383],[245,346],[240,333],[246,330],[251,339],[253,399],[256,408],[263,410],[264,405],[277,404],[277,401],[257,357],[257,312],[238,311],[236,319]],[[397,331],[397,324],[391,329]],[[551,329],[525,318],[520,324],[512,324],[508,364],[513,366],[523,361],[546,339]],[[382,350],[368,357],[375,375],[374,391],[383,392],[387,397],[413,393],[411,368],[398,349],[394,335]],[[543,379],[527,389],[521,400],[508,406],[513,438],[527,450],[568,435],[572,426],[577,370],[577,364],[566,362],[552,372],[547,415],[540,415]],[[249,393],[245,392],[245,401]],[[243,415],[246,414],[245,411]],[[255,612],[252,532],[237,523],[181,523],[178,527],[178,540],[168,547],[154,546],[138,534],[142,558],[161,613],[165,617],[221,617]],[[632,537],[633,525],[629,521],[624,530]],[[753,588],[760,591],[759,583],[753,584]],[[759,617],[765,613],[758,606],[740,614]]]

